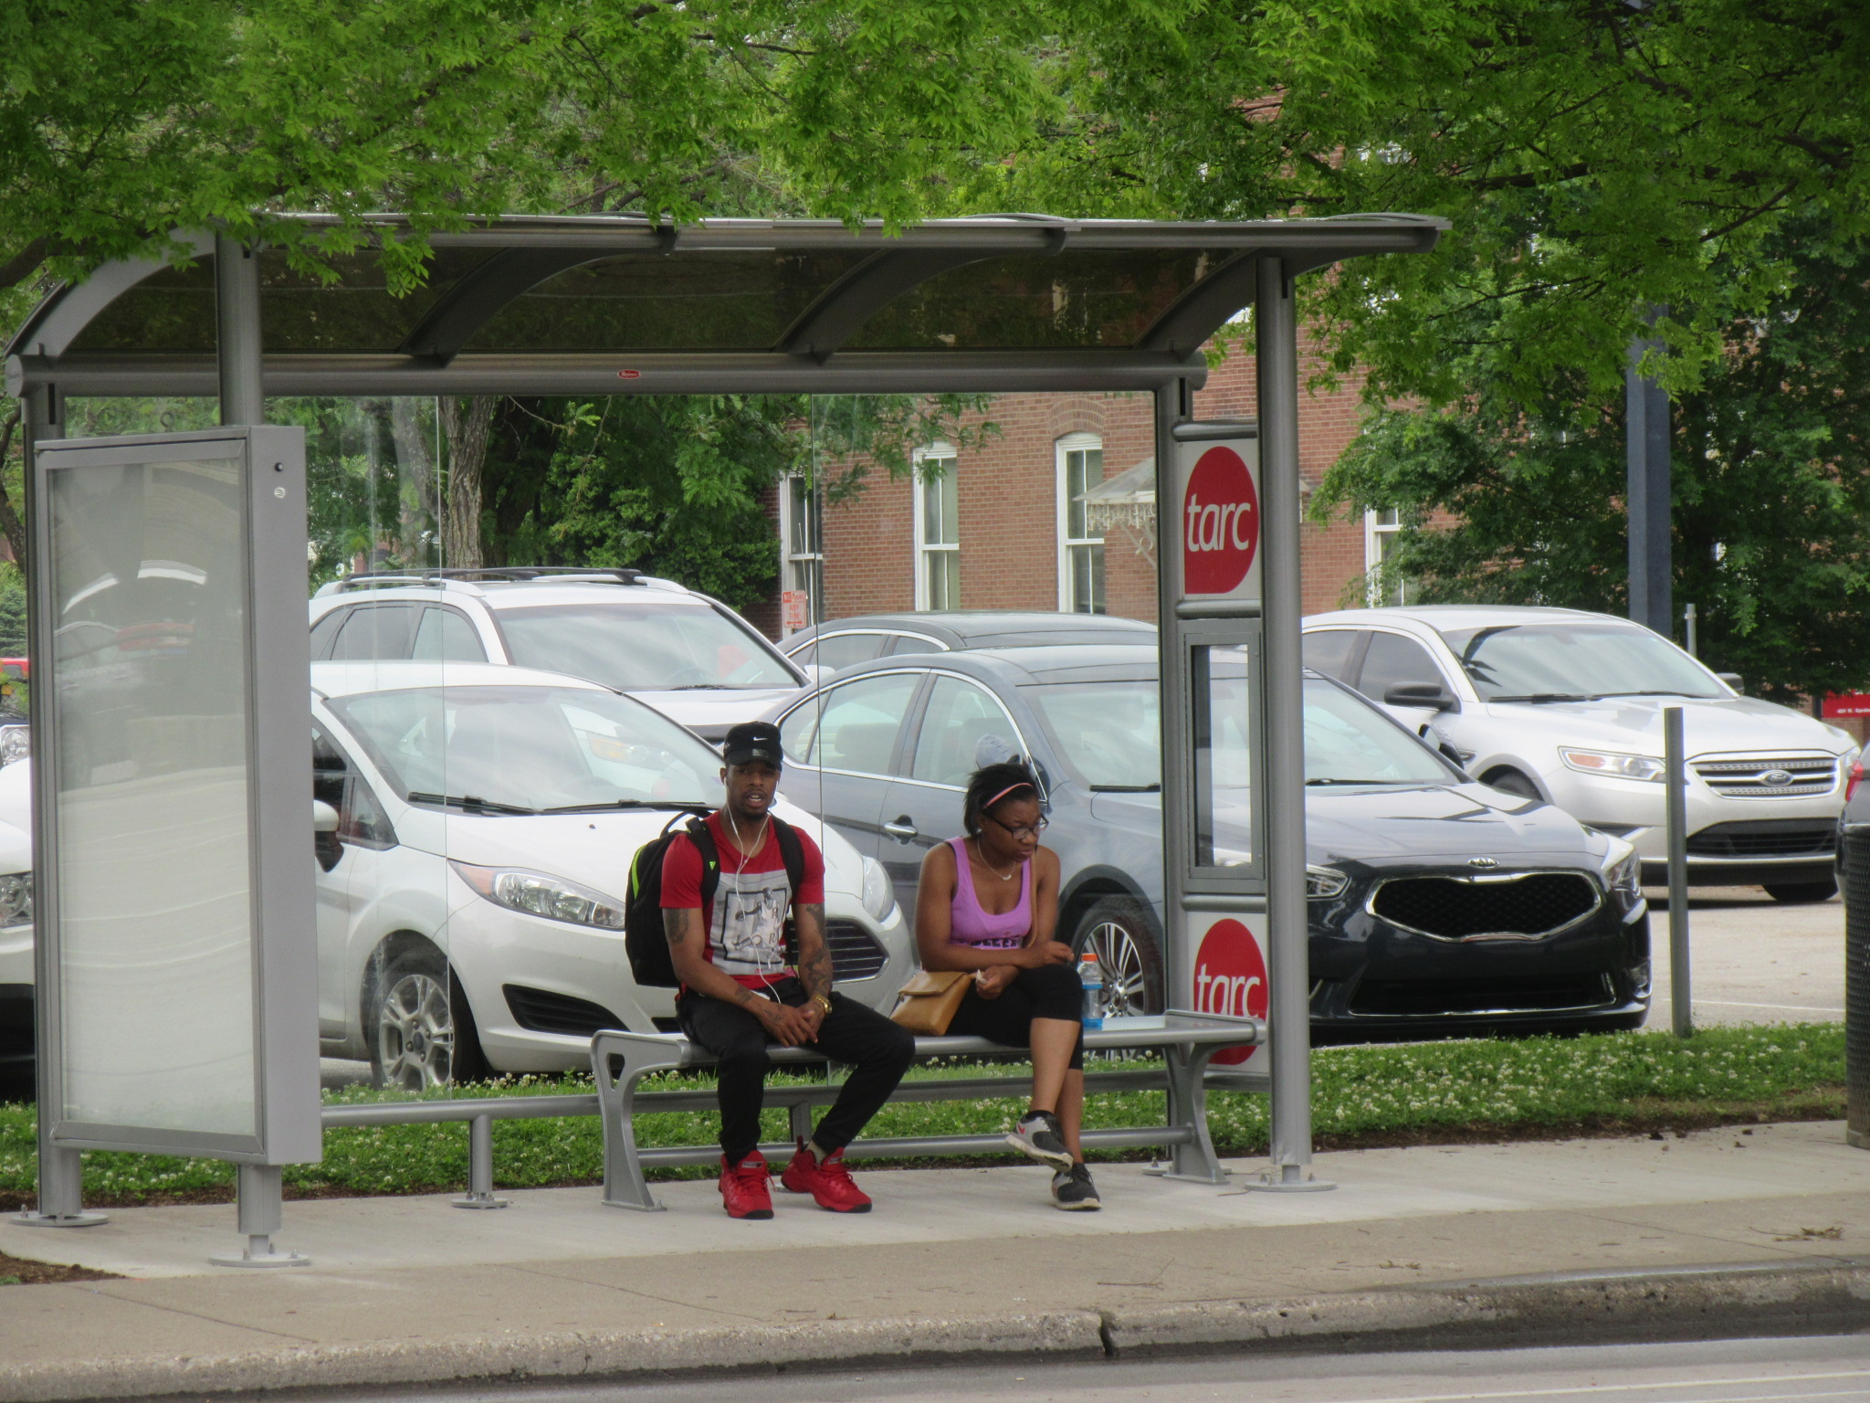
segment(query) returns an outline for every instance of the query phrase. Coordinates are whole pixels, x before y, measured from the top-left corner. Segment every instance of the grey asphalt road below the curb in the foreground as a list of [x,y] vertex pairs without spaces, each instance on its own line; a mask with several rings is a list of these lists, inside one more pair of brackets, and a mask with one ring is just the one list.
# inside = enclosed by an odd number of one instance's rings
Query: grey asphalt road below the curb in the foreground
[[[750,1283],[752,1289],[752,1283]],[[305,1403],[406,1392],[299,1394]],[[1707,1339],[1434,1354],[1257,1354],[434,1390],[451,1403],[1793,1403],[1870,1399],[1870,1341]]]

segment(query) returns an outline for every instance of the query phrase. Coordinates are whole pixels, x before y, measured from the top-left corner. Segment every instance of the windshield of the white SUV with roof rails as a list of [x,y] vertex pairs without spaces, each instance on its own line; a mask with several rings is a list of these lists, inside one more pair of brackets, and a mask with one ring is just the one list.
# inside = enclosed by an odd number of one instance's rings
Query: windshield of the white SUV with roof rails
[[494,617],[518,666],[619,692],[798,687],[759,638],[703,604],[539,604]]

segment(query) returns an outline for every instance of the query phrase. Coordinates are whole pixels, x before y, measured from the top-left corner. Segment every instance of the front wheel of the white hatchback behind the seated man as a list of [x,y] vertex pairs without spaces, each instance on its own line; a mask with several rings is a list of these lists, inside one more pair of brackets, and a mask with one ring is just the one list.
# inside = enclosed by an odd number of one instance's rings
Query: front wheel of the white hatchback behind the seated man
[[434,1091],[492,1076],[460,980],[432,945],[406,948],[383,965],[370,990],[365,1036],[378,1087]]

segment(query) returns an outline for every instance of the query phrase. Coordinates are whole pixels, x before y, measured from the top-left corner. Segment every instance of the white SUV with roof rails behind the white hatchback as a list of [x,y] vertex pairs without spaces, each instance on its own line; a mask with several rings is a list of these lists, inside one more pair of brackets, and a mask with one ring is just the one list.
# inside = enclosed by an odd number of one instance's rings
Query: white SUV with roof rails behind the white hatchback
[[501,662],[628,692],[720,745],[810,673],[720,600],[638,571],[353,574],[310,600],[312,662]]

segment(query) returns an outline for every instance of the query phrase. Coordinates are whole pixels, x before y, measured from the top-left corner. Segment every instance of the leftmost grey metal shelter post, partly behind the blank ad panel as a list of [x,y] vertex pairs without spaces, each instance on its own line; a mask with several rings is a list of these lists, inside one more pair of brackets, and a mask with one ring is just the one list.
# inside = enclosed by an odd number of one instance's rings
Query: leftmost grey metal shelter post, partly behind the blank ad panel
[[[34,443],[65,438],[65,398],[58,393],[56,385],[34,385],[26,389],[21,406],[21,430],[26,451],[26,520],[32,524],[32,548],[37,552],[50,537],[50,531],[43,529],[37,522],[37,514],[45,509],[45,503],[39,501],[39,492],[34,486],[34,458],[37,456]],[[22,561],[22,565],[34,567],[34,561]],[[26,657],[30,658],[28,675],[41,675],[36,664],[45,657],[45,638],[37,608],[26,612]],[[32,683],[28,681],[30,687]],[[32,715],[39,715],[37,707],[32,709]],[[39,782],[50,780],[50,769],[43,765],[36,767],[34,780],[32,847],[36,853],[49,853],[52,849],[45,838],[45,825],[50,823],[50,806],[45,803],[45,795],[39,793]],[[50,887],[50,874],[41,872],[39,883],[39,890],[45,892]],[[41,918],[49,907],[50,902],[41,898]],[[34,941],[32,963],[34,1029],[37,1036],[34,1070],[37,1074],[39,1207],[19,1212],[13,1222],[24,1227],[94,1227],[108,1222],[108,1218],[101,1212],[84,1212],[84,1162],[79,1150],[52,1143],[52,1128],[58,1124],[64,1091],[58,1085],[58,971],[52,969],[52,947],[49,941]]]

